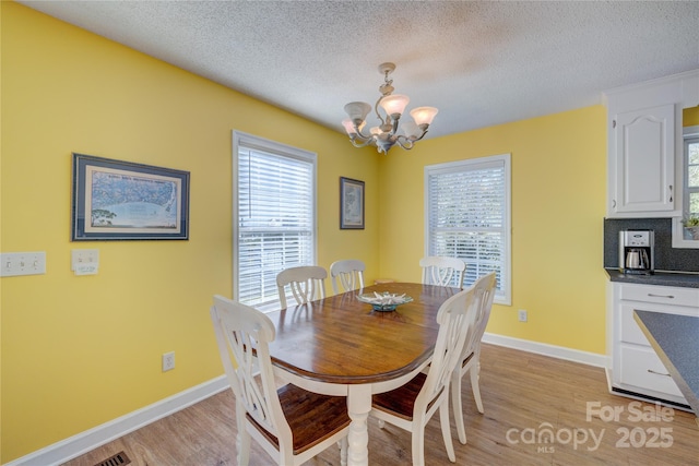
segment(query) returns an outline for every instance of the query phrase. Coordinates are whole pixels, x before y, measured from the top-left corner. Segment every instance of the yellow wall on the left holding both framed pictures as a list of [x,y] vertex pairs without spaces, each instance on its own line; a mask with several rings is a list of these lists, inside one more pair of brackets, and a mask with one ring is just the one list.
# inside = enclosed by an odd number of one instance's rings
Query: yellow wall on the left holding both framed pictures
[[[346,136],[16,3],[2,2],[1,250],[47,273],[0,280],[0,463],[223,373],[209,307],[232,296],[232,130],[318,154],[319,264],[378,266],[377,160]],[[191,172],[189,241],[69,241],[71,153]],[[367,229],[339,229],[339,178]],[[337,244],[343,248],[337,248]],[[99,250],[76,277],[71,249]],[[330,290],[330,288],[329,288]],[[176,351],[174,371],[161,355]]]

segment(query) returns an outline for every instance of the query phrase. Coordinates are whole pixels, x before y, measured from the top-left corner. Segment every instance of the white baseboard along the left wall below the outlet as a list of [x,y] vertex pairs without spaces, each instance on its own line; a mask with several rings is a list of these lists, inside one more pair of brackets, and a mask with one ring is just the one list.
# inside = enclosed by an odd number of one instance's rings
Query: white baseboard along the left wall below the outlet
[[226,389],[228,380],[225,375],[212,379],[200,385],[180,392],[176,395],[162,399],[117,419],[105,422],[93,429],[81,432],[76,435],[37,450],[26,456],[22,456],[13,462],[5,463],[4,466],[55,466],[85,454],[98,446],[119,439],[129,432],[133,432],[151,422],[167,417],[174,413],[185,409],[196,403],[206,399]]

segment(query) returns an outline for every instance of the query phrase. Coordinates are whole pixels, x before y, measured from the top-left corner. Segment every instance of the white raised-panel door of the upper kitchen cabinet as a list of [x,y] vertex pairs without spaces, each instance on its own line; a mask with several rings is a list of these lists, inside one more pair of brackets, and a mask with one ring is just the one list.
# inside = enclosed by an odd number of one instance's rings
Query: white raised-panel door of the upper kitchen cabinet
[[675,106],[618,113],[614,134],[615,211],[639,214],[673,211]]

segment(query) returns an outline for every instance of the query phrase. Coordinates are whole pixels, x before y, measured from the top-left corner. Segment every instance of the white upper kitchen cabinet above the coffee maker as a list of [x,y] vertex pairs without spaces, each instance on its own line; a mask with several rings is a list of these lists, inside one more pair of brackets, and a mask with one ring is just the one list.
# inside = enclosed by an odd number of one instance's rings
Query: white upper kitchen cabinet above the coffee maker
[[607,217],[682,217],[682,110],[699,104],[699,70],[604,94]]

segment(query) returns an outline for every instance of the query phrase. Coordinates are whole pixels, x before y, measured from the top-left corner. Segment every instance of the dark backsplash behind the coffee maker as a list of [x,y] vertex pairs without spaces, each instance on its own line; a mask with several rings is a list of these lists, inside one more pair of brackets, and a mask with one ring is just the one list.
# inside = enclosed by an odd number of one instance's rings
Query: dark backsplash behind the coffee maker
[[619,266],[619,231],[628,229],[654,231],[656,271],[699,272],[699,249],[673,248],[672,218],[605,218],[605,268]]

